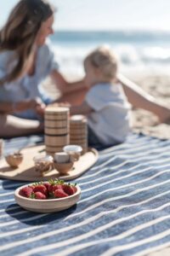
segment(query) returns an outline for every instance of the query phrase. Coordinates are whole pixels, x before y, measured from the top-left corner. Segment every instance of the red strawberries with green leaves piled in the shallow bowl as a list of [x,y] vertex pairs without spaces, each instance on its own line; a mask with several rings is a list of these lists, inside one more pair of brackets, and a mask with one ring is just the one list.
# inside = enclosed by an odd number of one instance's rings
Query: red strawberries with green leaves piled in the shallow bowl
[[20,189],[19,194],[31,199],[54,199],[74,195],[77,192],[77,184],[65,183],[63,180],[34,183]]

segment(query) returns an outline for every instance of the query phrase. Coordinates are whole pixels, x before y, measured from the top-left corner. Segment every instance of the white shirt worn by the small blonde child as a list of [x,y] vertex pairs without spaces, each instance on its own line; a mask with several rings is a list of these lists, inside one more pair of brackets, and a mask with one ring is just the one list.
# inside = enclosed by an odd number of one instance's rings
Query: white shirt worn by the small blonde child
[[101,143],[122,143],[130,131],[130,104],[121,84],[95,84],[88,90],[85,102],[94,112],[88,125]]

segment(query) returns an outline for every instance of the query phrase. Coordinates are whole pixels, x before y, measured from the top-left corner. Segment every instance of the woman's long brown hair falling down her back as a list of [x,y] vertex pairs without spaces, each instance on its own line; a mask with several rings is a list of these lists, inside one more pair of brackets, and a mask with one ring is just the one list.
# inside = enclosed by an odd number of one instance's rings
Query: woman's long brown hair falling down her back
[[17,64],[0,80],[0,84],[20,77],[32,55],[33,45],[42,22],[53,14],[54,8],[46,0],[20,0],[14,7],[0,31],[0,53],[14,50]]

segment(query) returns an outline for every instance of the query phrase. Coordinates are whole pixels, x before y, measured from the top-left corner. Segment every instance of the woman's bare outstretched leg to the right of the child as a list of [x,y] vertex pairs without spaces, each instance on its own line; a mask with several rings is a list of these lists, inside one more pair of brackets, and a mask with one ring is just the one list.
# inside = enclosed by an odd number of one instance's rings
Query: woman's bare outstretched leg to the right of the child
[[142,90],[137,84],[134,84],[122,74],[118,75],[118,80],[122,84],[127,99],[133,107],[143,108],[155,113],[161,122],[170,118],[170,108],[167,108],[161,102],[157,102],[155,97],[150,96],[150,94]]

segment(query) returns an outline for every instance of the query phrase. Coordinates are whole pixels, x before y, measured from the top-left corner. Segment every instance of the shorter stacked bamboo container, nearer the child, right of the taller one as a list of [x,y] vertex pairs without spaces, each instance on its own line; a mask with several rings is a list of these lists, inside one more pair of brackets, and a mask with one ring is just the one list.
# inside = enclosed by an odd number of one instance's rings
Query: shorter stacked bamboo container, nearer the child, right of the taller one
[[83,115],[73,115],[70,119],[70,143],[82,147],[82,154],[88,151],[88,121]]

